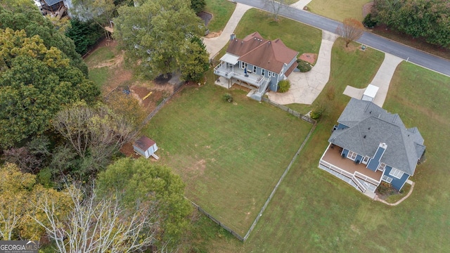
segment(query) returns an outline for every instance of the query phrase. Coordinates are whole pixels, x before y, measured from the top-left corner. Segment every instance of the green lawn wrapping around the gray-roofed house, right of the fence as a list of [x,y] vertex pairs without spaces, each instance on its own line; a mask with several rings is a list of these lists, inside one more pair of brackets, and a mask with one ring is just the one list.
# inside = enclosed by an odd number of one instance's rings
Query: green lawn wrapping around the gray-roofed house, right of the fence
[[[327,86],[339,78],[337,49]],[[348,68],[342,64],[341,70]],[[349,99],[338,90],[337,109],[319,123],[245,246],[216,237],[211,252],[221,245],[231,245],[229,252],[449,251],[450,78],[411,63],[401,63],[394,74],[383,108],[399,113],[407,127],[418,126],[427,145],[427,160],[411,178],[413,194],[397,207],[370,200],[317,168],[333,121]]]

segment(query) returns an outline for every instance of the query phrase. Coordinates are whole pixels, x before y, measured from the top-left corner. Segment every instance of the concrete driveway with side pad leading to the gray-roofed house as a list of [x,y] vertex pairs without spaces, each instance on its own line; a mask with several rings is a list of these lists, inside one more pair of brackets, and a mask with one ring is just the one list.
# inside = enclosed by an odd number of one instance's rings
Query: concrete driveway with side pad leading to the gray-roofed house
[[[397,65],[399,65],[402,60],[403,59],[398,58],[397,56],[392,56],[392,54],[390,53],[385,53],[385,60],[383,60],[383,63],[381,63],[377,74],[375,74],[375,77],[373,77],[371,84],[378,86],[379,88],[377,95],[373,100],[373,103],[380,106],[381,108],[385,103],[387,90],[389,89],[392,76],[397,69]],[[344,94],[347,96],[351,96],[352,98],[361,99],[364,90],[365,89],[356,89],[352,86],[347,86],[345,88]]]

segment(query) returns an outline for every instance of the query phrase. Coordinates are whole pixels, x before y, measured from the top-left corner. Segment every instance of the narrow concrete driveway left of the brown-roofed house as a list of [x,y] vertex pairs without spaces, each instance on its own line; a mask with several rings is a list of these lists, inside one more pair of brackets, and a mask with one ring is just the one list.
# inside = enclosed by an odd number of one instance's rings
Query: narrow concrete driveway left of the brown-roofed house
[[214,57],[221,48],[223,48],[226,43],[230,40],[230,35],[234,32],[236,27],[238,26],[240,18],[244,15],[248,9],[252,8],[252,6],[248,6],[245,4],[236,4],[236,8],[234,9],[233,14],[230,17],[230,20],[226,23],[224,30],[221,32],[219,37],[214,38],[204,38],[203,43],[206,46],[206,50],[210,53],[210,58]]

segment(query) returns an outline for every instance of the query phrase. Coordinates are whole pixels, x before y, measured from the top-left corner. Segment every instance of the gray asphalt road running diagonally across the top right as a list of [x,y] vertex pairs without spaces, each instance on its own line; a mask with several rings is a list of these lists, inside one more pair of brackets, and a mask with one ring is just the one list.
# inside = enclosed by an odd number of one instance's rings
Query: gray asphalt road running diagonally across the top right
[[[270,11],[271,7],[268,4],[264,4],[262,0],[234,0],[238,3],[247,4],[255,8],[260,8],[265,11]],[[307,11],[298,10],[290,6],[283,6],[280,11],[280,15],[287,18],[292,18],[304,24],[317,27],[321,30],[329,32],[335,32],[336,28],[340,24],[335,20],[324,18],[322,16],[309,13]],[[366,44],[372,48],[378,49],[385,53],[390,53],[394,56],[398,56],[404,60],[408,60],[411,63],[415,63],[422,67],[426,67],[430,70],[445,74],[450,77],[450,60],[445,60],[437,56],[432,56],[423,51],[418,51],[415,48],[399,44],[397,42],[385,39],[375,34],[365,32],[363,36],[358,40],[359,43]]]

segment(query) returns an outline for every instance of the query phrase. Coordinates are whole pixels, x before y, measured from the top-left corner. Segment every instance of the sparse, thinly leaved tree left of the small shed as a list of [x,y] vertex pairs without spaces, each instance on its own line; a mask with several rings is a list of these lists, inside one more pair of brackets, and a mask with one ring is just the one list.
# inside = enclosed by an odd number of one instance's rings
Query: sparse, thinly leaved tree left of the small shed
[[89,107],[86,103],[75,103],[58,112],[53,127],[81,158],[77,172],[86,177],[105,167],[124,143],[133,141],[141,124],[136,125],[105,105]]

